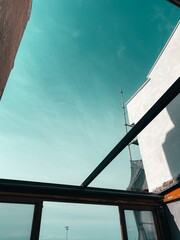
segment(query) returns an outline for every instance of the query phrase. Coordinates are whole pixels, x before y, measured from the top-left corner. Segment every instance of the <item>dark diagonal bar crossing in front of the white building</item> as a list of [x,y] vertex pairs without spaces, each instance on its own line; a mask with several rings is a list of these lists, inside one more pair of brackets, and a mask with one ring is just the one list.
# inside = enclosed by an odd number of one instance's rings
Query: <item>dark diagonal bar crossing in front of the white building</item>
[[122,138],[122,140],[112,149],[112,151],[85,179],[81,186],[87,187],[114,160],[114,158],[179,94],[179,92],[180,77],[125,135],[125,137]]

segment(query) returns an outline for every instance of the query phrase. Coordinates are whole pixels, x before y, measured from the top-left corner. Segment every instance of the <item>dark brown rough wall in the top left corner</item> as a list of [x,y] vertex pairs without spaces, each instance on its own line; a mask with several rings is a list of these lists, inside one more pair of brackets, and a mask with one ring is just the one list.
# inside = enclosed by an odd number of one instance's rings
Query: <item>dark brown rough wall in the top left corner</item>
[[31,11],[31,0],[0,0],[0,98]]

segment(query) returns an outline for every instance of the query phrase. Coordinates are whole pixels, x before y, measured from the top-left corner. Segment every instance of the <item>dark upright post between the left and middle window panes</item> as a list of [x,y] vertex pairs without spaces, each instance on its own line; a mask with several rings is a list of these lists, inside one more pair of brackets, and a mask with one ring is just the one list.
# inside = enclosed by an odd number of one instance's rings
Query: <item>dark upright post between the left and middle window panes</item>
[[30,240],[39,240],[42,208],[43,202],[35,204]]

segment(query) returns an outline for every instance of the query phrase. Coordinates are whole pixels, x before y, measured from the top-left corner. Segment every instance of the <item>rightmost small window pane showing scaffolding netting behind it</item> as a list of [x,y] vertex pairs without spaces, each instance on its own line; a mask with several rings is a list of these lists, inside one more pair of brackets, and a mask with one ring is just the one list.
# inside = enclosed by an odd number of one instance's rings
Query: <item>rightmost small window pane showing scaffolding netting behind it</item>
[[157,234],[151,211],[125,211],[128,240],[156,240]]

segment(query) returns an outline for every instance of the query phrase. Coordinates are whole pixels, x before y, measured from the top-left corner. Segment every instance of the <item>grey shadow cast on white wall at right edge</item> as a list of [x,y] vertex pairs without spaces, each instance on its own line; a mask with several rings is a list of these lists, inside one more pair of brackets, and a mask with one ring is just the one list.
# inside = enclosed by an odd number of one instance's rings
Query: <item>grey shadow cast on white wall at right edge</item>
[[180,174],[180,95],[166,109],[174,124],[174,128],[166,134],[166,139],[162,147],[171,175],[172,177],[177,177]]

